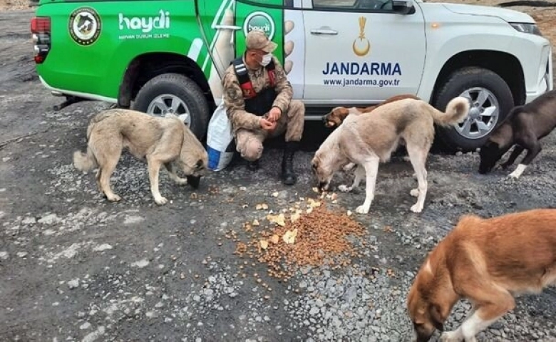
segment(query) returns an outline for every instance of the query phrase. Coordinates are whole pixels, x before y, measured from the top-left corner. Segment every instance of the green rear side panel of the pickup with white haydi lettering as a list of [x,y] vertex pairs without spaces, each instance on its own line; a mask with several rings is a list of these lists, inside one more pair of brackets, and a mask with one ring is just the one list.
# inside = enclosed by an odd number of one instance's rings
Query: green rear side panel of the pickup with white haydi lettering
[[[96,16],[98,36],[76,41],[73,21],[80,20],[75,16],[83,10]],[[48,86],[113,102],[133,59],[160,52],[185,56],[201,37],[194,1],[42,1],[36,15],[52,21],[51,51],[45,63],[37,65]],[[206,49],[200,51],[199,58],[206,56]]]

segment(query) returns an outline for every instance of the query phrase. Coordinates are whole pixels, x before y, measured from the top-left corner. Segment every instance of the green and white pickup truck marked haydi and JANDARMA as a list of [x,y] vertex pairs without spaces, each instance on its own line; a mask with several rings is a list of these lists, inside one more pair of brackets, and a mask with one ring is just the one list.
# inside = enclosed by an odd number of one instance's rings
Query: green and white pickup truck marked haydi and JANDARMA
[[514,105],[552,90],[552,51],[519,11],[419,0],[41,0],[31,21],[36,71],[53,95],[180,115],[198,137],[222,100],[221,76],[245,35],[278,44],[307,120],[337,105],[411,93],[470,113],[439,129],[475,150]]

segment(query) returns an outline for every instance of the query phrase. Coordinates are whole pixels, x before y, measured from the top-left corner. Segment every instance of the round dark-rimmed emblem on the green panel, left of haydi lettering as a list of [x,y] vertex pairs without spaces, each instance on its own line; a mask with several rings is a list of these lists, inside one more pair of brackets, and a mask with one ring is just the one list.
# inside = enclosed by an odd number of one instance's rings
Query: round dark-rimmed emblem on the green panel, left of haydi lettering
[[101,35],[101,17],[91,7],[81,7],[71,12],[68,31],[80,45],[91,45]]

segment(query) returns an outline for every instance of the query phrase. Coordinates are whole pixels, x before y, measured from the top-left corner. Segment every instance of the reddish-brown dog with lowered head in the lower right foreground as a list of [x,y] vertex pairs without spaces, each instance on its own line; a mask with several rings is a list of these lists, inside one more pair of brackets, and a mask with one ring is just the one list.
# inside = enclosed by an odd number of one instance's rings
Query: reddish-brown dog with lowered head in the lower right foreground
[[515,307],[513,296],[556,284],[556,209],[535,209],[491,219],[473,215],[428,255],[408,294],[416,341],[443,330],[462,298],[473,311],[441,341],[475,341],[475,335]]

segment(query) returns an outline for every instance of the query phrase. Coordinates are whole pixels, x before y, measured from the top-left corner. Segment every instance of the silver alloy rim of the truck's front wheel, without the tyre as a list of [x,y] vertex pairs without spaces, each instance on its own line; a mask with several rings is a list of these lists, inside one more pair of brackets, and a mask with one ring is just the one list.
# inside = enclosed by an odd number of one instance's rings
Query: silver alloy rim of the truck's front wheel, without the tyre
[[470,88],[460,94],[468,98],[469,115],[455,130],[468,139],[480,139],[488,135],[498,122],[500,105],[495,95],[486,88]]

